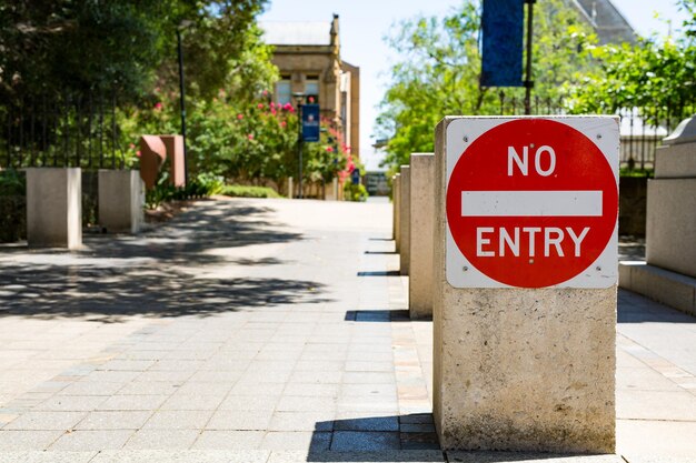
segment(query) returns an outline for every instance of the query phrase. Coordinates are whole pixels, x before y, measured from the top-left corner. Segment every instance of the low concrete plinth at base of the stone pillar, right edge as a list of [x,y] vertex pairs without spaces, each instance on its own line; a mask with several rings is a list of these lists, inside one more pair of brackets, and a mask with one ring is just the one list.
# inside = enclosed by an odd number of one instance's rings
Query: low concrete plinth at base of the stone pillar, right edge
[[619,286],[696,315],[696,279],[646,262],[620,262]]

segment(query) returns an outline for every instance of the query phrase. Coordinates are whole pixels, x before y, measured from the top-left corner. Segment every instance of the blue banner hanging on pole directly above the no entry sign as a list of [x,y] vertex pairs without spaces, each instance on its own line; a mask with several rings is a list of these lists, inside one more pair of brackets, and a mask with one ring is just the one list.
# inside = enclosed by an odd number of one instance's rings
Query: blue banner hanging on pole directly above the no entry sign
[[484,0],[483,87],[523,87],[524,2]]

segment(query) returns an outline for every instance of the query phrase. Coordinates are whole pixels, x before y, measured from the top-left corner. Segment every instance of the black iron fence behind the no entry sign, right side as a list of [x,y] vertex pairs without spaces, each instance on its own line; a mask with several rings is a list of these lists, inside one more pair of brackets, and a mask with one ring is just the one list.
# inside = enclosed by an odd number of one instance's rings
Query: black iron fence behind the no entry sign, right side
[[[521,115],[524,99],[498,94],[500,115]],[[541,115],[568,114],[564,99],[534,98],[531,112]],[[666,107],[624,108],[614,114],[620,117],[620,167],[626,169],[653,169],[655,152],[662,140],[677,124],[696,112],[696,104],[669,104]]]

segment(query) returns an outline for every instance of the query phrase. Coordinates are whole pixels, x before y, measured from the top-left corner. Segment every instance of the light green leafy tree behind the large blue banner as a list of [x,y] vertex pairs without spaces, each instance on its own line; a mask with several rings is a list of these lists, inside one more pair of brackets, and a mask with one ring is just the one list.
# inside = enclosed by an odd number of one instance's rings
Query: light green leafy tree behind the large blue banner
[[[408,163],[411,152],[434,149],[434,128],[447,114],[499,114],[499,89],[480,81],[480,3],[464,1],[445,18],[416,18],[388,38],[406,58],[391,69],[377,130],[389,139],[385,163]],[[591,42],[589,28],[563,0],[537,2],[534,31],[534,94],[558,98],[564,82],[591,63],[578,48]],[[506,89],[506,99],[523,89]]]

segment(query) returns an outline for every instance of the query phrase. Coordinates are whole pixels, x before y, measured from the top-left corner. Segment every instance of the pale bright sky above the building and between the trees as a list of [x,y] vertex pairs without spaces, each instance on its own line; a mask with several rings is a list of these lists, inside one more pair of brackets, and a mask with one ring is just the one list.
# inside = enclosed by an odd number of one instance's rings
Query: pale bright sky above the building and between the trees
[[[389,83],[390,64],[398,61],[384,37],[402,20],[419,14],[444,16],[460,0],[270,0],[260,21],[331,21],[339,14],[341,59],[360,67],[360,159],[367,170],[379,165],[375,143],[378,104]],[[613,0],[628,23],[642,36],[666,36],[672,21],[676,31],[685,16],[673,0]],[[657,17],[656,17],[657,16]]]

